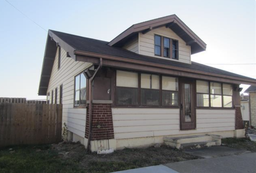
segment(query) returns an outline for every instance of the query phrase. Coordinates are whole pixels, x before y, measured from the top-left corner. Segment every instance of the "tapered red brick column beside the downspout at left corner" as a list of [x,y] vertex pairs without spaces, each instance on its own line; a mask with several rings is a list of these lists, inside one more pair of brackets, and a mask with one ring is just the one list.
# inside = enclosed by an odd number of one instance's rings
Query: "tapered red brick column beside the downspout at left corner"
[[[91,140],[107,140],[114,138],[111,104],[93,103],[92,105]],[[89,135],[89,108],[87,109],[85,138]]]

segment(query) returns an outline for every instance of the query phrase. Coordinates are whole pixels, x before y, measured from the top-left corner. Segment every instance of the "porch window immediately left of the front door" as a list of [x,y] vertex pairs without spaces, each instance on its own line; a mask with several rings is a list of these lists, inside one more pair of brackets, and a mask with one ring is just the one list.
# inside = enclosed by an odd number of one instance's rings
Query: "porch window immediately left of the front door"
[[162,76],[162,105],[178,106],[178,79]]

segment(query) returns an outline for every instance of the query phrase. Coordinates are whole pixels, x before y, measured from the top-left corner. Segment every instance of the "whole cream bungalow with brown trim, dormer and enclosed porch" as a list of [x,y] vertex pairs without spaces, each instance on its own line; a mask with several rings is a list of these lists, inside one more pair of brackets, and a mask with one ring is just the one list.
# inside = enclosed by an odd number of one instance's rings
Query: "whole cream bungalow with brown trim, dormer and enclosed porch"
[[134,24],[110,42],[49,30],[38,94],[63,104],[69,139],[92,151],[242,137],[239,85],[256,80],[191,61],[205,50],[176,15]]

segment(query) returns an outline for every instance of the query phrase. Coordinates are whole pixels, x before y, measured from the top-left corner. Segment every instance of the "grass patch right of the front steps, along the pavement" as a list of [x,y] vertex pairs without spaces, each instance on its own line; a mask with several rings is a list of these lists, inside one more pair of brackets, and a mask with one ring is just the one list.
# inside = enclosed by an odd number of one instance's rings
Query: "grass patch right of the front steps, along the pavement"
[[224,138],[222,144],[227,147],[246,149],[256,152],[256,142],[247,140],[246,138]]

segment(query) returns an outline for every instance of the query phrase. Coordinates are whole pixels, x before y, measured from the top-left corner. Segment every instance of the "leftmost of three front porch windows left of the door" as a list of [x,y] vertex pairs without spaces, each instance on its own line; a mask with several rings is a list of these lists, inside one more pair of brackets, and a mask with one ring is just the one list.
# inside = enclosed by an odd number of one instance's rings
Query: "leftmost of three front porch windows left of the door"
[[138,73],[117,70],[117,105],[138,104]]

